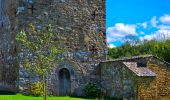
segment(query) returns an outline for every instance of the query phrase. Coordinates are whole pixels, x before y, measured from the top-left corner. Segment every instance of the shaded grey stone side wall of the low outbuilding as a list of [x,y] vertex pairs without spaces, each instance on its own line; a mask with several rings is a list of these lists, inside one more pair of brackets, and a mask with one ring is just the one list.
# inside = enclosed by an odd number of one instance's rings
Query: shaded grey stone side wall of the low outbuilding
[[121,62],[100,64],[101,88],[104,96],[135,99],[136,76]]

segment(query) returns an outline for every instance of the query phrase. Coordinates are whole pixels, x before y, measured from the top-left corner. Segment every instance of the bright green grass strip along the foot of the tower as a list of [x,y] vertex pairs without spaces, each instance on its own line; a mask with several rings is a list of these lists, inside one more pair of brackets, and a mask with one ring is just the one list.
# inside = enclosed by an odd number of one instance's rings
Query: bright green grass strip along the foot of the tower
[[[43,100],[43,97],[24,96],[22,94],[0,95],[0,100]],[[74,97],[48,97],[47,100],[92,100]]]

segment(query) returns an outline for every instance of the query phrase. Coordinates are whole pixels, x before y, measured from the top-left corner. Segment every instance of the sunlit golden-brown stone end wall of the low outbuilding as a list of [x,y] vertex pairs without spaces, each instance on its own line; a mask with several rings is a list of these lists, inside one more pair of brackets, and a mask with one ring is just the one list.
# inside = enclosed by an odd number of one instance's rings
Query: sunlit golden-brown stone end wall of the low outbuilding
[[139,85],[139,100],[168,100],[170,98],[170,65],[152,58],[148,68],[156,73],[156,78],[144,80]]

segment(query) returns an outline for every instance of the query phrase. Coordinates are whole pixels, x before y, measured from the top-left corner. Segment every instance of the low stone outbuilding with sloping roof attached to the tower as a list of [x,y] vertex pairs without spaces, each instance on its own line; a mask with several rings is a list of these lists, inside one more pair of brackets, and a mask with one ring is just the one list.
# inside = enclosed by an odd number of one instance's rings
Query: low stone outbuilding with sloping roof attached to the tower
[[98,66],[103,95],[128,100],[169,100],[170,63],[154,56],[101,62]]

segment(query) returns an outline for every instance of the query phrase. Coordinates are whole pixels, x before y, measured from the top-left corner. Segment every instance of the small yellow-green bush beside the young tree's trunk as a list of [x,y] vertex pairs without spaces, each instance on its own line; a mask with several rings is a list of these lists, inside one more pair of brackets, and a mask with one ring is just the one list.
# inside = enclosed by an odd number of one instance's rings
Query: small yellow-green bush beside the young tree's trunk
[[43,95],[43,83],[39,81],[31,83],[31,94],[34,96],[42,96]]

